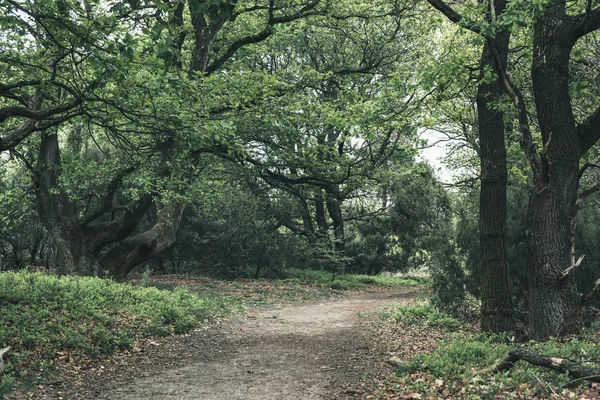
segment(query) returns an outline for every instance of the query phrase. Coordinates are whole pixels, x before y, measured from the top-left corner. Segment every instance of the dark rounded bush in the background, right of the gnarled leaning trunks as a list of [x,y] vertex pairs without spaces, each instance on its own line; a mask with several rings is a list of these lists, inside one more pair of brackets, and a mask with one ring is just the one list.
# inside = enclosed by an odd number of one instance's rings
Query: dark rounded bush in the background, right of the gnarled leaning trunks
[[277,210],[289,202],[270,199],[239,168],[224,166],[221,173],[230,179],[205,182],[206,192],[186,211],[173,251],[177,259],[165,258],[165,268],[237,279],[255,276],[257,269],[277,275],[306,261],[306,244],[278,229]]

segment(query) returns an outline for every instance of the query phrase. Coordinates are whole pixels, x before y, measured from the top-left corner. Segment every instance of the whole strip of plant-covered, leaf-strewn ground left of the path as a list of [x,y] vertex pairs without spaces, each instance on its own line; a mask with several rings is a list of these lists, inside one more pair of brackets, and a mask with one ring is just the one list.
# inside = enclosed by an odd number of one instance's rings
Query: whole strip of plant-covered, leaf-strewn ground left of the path
[[43,273],[0,273],[0,394],[33,384],[57,366],[89,364],[150,338],[188,332],[249,307],[275,301],[342,296],[348,290],[423,286],[406,276],[340,275],[289,270],[283,279],[221,281],[200,276],[151,276],[132,283]]

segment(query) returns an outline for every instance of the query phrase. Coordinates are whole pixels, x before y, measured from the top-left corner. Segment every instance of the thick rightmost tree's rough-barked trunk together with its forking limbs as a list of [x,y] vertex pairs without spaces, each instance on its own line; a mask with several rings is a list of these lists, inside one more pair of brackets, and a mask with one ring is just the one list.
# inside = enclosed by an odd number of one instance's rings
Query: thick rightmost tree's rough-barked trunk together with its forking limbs
[[[428,0],[448,19],[483,34],[476,21],[443,0]],[[569,60],[583,36],[600,29],[600,7],[588,2],[579,15],[569,15],[565,0],[550,0],[534,15],[531,78],[543,150],[538,154],[523,95],[501,57],[494,67],[519,120],[521,148],[532,169],[535,191],[529,204],[531,228],[528,286],[529,328],[535,339],[579,329],[581,304],[571,267],[572,229],[578,209],[579,160],[600,140],[600,108],[577,124],[569,93]],[[488,42],[492,42],[486,37]]]

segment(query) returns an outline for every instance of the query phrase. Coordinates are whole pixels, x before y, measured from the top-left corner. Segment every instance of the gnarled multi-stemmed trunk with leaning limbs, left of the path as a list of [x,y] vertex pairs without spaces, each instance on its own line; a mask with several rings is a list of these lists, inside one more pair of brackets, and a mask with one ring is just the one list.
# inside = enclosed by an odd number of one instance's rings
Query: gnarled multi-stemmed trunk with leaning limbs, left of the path
[[111,213],[114,191],[128,170],[109,183],[109,194],[96,210],[81,215],[59,183],[60,169],[58,138],[43,134],[36,172],[38,214],[56,244],[59,272],[104,276],[108,271],[124,279],[136,265],[173,244],[184,204],[163,207],[150,229],[132,236],[154,202],[150,194],[120,212],[118,218],[98,222]]

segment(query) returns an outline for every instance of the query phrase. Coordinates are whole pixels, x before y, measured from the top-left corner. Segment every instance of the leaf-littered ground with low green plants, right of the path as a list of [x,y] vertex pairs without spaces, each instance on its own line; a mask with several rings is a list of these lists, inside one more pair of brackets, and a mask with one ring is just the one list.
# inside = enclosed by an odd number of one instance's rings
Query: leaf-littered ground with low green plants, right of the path
[[[372,399],[597,399],[600,384],[517,361],[508,371],[489,368],[515,348],[600,367],[597,327],[562,339],[519,342],[484,334],[475,324],[416,302],[392,310],[381,328],[394,372],[371,376],[363,386]],[[458,322],[458,323],[455,323]],[[389,361],[389,360],[388,360]]]

